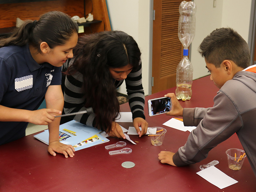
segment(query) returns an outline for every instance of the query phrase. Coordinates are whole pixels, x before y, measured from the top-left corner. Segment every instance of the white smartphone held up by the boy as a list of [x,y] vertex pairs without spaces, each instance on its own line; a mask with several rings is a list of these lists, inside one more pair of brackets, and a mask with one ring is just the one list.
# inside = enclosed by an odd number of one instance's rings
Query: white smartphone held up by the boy
[[148,100],[148,115],[154,116],[167,113],[172,108],[170,97],[160,97]]

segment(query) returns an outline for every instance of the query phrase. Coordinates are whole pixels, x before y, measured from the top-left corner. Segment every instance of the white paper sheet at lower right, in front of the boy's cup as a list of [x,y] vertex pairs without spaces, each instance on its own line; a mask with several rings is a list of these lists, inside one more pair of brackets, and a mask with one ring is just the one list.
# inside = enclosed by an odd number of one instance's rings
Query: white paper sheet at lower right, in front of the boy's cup
[[238,182],[214,166],[203,169],[196,174],[203,177],[205,180],[209,181],[220,189],[223,189]]

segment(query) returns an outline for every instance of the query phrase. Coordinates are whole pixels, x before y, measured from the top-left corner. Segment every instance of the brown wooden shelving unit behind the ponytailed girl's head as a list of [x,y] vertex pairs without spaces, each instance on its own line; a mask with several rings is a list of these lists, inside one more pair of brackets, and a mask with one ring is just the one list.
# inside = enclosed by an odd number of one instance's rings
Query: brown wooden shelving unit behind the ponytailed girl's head
[[80,35],[111,30],[106,0],[20,0],[24,3],[19,0],[3,1],[8,3],[0,6],[0,37],[11,34],[17,18],[38,20],[45,12],[55,10],[80,18],[84,17],[84,14],[92,13],[93,21],[78,23],[79,26],[84,26],[84,33]]

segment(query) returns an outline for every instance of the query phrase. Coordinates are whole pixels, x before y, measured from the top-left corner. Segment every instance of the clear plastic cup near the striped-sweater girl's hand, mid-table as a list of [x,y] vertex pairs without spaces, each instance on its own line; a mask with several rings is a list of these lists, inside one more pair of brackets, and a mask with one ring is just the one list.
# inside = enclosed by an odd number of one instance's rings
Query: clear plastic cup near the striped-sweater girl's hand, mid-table
[[164,135],[166,133],[166,129],[162,127],[151,127],[148,129],[150,142],[154,146],[160,146],[163,144]]

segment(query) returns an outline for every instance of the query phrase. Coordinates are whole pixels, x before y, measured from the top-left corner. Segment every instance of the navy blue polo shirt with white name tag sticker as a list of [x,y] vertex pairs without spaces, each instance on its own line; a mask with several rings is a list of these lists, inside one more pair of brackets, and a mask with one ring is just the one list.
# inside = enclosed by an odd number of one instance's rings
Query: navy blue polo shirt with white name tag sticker
[[[0,48],[0,105],[36,110],[49,85],[61,84],[61,67],[38,64],[28,45]],[[0,122],[0,145],[25,136],[27,122]]]

